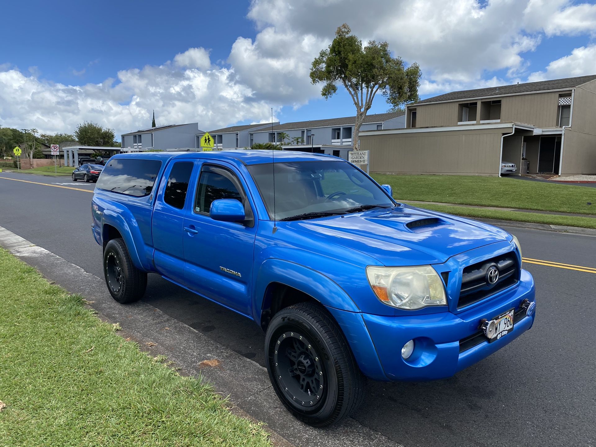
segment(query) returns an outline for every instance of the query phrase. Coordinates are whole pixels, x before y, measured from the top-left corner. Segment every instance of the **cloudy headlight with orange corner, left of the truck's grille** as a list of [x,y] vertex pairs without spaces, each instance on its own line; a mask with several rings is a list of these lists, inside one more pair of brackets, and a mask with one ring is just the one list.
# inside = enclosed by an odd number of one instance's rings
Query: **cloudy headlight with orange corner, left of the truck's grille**
[[367,267],[368,283],[377,298],[394,308],[414,311],[446,306],[443,281],[430,265],[416,267]]

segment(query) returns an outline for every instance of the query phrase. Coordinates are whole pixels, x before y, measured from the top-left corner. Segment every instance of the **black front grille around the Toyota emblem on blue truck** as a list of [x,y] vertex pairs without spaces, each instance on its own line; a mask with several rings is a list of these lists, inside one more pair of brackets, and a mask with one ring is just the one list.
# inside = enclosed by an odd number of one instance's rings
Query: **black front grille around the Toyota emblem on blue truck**
[[[495,284],[489,284],[487,280],[487,272],[492,266],[496,266],[499,271],[499,278]],[[519,275],[520,268],[514,252],[468,265],[462,272],[457,308],[464,308],[517,284]]]

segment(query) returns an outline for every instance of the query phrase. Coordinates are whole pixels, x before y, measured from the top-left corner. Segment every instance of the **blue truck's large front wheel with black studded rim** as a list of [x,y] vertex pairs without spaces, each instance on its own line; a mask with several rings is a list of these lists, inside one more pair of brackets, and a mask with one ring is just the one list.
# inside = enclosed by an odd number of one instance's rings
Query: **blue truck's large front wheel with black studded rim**
[[315,427],[337,423],[364,398],[364,377],[337,323],[321,306],[299,303],[267,328],[265,362],[285,407]]

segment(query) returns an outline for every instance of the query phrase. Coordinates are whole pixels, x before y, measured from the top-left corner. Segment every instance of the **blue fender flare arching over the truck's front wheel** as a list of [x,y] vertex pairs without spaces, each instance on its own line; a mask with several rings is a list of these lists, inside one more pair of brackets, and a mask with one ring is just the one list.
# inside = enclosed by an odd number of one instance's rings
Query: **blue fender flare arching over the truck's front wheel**
[[348,312],[361,312],[350,296],[331,278],[305,266],[288,260],[269,258],[259,268],[254,284],[253,315],[259,322],[263,300],[271,283],[281,283],[312,296],[328,308]]

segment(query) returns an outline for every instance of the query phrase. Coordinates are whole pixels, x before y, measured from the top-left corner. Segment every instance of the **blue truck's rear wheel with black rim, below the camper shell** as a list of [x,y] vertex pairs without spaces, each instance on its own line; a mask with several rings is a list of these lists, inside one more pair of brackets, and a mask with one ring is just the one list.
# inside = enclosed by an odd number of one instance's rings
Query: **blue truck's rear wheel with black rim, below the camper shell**
[[111,296],[119,303],[132,303],[145,294],[147,273],[133,265],[122,238],[112,239],[105,246],[104,277]]

